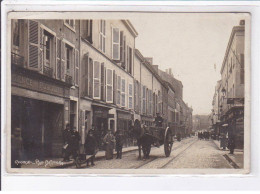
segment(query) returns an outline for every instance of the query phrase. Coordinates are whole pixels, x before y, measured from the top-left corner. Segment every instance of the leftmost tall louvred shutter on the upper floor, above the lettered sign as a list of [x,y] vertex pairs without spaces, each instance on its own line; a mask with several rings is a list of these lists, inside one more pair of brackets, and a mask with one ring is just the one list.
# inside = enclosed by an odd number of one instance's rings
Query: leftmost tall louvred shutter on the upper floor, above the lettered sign
[[28,44],[28,69],[40,70],[40,27],[36,21],[28,21],[29,44]]

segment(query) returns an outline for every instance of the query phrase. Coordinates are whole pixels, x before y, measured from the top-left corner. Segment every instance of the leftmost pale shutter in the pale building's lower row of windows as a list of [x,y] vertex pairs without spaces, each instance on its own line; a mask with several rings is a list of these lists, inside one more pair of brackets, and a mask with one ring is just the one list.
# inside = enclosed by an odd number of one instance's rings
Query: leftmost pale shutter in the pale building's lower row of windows
[[100,63],[98,61],[94,61],[94,68],[93,68],[93,98],[94,99],[100,99]]

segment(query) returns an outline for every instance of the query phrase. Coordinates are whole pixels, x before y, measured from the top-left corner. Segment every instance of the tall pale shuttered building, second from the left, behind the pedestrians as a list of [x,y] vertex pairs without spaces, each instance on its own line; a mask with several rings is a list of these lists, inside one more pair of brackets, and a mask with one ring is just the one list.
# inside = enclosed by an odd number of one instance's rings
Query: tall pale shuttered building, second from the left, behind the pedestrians
[[131,145],[134,114],[134,49],[137,32],[128,20],[80,21],[80,123],[82,141],[94,127],[98,141],[124,131]]

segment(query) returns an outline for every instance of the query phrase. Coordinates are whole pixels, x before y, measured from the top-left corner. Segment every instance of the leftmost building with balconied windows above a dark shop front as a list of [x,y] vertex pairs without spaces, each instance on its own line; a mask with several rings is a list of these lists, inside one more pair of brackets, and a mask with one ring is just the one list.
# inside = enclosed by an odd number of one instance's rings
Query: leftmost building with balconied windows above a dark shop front
[[11,130],[25,159],[61,156],[62,130],[78,128],[79,22],[12,20]]

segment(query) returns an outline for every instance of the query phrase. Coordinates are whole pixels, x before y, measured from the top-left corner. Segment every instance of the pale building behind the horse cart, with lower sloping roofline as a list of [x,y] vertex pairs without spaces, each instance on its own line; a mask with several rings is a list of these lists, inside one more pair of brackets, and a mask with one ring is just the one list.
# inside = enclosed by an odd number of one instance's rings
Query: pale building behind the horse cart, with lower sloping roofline
[[153,69],[151,58],[145,58],[139,50],[135,49],[134,60],[135,119],[151,126],[154,124],[156,113],[159,113],[163,117],[164,127],[166,127],[168,115],[167,84]]

